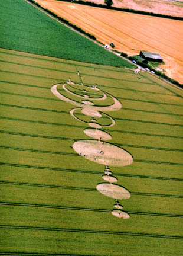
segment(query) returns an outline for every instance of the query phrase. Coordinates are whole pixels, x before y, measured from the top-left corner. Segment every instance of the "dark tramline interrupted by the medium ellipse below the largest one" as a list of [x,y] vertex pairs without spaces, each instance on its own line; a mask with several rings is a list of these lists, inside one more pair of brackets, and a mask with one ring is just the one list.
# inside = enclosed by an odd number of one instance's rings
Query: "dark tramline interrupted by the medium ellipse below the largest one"
[[[84,190],[84,191],[93,191],[96,192],[96,188],[88,188],[88,187],[71,187],[71,186],[61,186],[61,185],[48,185],[48,184],[35,184],[35,183],[20,183],[14,181],[0,181],[1,184],[8,185],[24,185],[30,187],[44,187],[44,188],[58,188],[64,190]],[[158,194],[158,193],[143,193],[143,192],[132,192],[130,194],[135,196],[155,196],[155,197],[174,197],[174,198],[183,198],[181,195],[172,195],[172,194]]]

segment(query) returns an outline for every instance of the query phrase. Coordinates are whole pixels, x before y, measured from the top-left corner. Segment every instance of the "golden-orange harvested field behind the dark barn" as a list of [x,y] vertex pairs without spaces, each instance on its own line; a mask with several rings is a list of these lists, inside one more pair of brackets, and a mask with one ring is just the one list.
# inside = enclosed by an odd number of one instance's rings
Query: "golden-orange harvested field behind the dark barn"
[[182,21],[55,0],[37,2],[93,34],[101,43],[113,41],[119,52],[126,52],[129,56],[139,54],[140,50],[159,53],[165,62],[160,68],[169,77],[183,83]]

